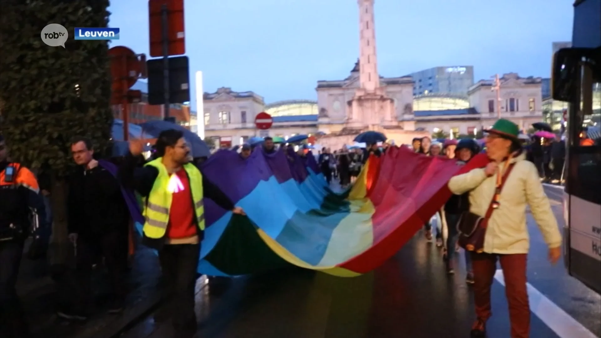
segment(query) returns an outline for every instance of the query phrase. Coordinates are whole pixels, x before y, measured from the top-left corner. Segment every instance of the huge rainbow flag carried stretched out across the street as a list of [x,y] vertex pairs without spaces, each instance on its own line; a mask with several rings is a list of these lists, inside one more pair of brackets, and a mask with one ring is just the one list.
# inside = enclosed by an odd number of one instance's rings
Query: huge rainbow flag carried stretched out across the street
[[247,216],[205,198],[207,228],[198,272],[243,275],[297,265],[341,277],[381,265],[448,200],[448,180],[483,167],[392,147],[371,156],[351,189],[332,191],[311,155],[220,150],[203,173]]

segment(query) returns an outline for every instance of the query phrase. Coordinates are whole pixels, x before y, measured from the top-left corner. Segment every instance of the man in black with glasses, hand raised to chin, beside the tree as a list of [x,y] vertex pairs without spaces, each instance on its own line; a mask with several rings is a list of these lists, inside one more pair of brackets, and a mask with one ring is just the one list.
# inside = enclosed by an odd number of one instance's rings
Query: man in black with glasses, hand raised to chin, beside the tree
[[98,165],[87,138],[75,138],[71,151],[78,164],[69,180],[69,239],[75,246],[79,286],[72,301],[58,312],[64,319],[85,320],[91,309],[91,272],[101,257],[111,280],[110,313],[123,310],[127,295],[127,236],[129,211],[121,186],[112,174]]

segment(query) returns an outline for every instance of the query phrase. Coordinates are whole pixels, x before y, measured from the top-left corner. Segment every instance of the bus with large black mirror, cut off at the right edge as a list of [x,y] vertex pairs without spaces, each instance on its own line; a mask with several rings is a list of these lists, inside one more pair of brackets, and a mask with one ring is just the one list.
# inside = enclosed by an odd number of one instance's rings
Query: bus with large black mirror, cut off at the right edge
[[601,0],[574,3],[572,47],[554,54],[552,97],[569,103],[564,262],[601,293]]

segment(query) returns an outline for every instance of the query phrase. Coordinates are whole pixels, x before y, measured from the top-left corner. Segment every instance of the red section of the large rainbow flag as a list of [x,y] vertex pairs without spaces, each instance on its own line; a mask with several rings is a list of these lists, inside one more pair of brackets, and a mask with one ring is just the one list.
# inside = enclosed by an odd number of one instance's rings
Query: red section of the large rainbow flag
[[[370,160],[371,161],[371,160]],[[375,207],[374,244],[340,266],[366,273],[394,255],[451,197],[451,177],[486,166],[486,155],[459,166],[455,160],[424,156],[409,149],[391,148],[368,170],[377,170],[368,195]],[[371,166],[379,168],[371,168]]]

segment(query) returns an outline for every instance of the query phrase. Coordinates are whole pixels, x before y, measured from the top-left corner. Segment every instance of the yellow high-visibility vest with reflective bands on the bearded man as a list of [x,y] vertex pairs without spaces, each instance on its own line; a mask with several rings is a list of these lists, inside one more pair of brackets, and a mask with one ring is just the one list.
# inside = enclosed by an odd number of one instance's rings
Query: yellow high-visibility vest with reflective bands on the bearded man
[[[167,224],[169,223],[169,209],[171,209],[172,192],[169,191],[169,173],[163,165],[162,158],[154,159],[145,165],[151,165],[159,170],[159,176],[154,180],[154,184],[148,194],[146,205],[144,206],[144,218],[146,222],[142,232],[148,238],[159,239],[165,236]],[[185,189],[192,189],[192,203],[194,203],[195,217],[198,221],[200,230],[204,230],[204,203],[203,203],[203,174],[193,164],[183,166],[188,174],[190,186]]]

